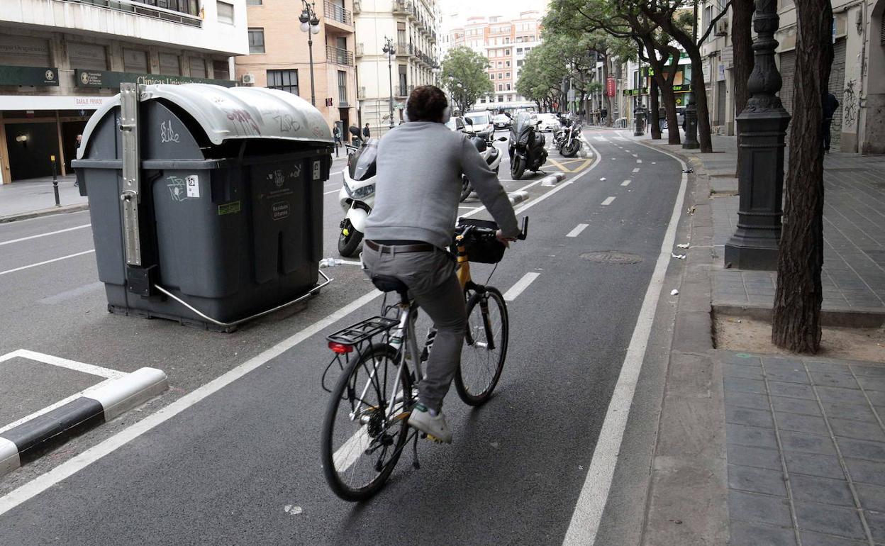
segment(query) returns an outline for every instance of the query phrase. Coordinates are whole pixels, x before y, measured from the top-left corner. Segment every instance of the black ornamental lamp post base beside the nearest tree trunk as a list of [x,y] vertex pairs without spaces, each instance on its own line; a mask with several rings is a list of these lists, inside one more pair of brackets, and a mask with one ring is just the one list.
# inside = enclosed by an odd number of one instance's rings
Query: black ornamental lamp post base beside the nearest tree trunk
[[735,235],[725,245],[725,263],[740,269],[777,269],[783,211],[784,136],[789,113],[777,92],[781,74],[774,65],[780,18],[777,0],[756,0],[753,29],[755,65],[747,81],[750,100],[737,116],[743,149],[737,185],[741,194]]

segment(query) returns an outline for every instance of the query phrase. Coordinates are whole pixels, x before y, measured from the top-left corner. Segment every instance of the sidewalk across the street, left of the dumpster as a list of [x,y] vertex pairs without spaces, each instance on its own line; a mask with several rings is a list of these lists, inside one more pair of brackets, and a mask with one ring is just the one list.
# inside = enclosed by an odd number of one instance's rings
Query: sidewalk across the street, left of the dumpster
[[52,177],[15,181],[0,185],[0,222],[11,219],[40,216],[55,211],[84,210],[87,197],[80,195],[80,189],[73,185],[73,174],[58,177],[58,200],[52,190]]

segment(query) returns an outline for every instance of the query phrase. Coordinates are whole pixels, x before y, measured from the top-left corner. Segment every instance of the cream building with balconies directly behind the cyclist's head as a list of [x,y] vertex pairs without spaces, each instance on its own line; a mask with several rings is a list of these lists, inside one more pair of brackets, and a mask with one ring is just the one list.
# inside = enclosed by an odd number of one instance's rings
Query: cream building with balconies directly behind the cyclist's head
[[[362,123],[381,135],[403,120],[412,88],[439,79],[441,15],[435,0],[362,0],[356,16]],[[384,54],[389,39],[395,49]]]

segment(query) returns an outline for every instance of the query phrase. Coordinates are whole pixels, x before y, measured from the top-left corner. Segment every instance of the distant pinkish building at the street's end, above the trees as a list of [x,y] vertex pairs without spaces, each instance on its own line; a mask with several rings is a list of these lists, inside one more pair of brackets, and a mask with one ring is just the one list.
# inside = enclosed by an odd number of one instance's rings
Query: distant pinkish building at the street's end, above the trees
[[520,96],[516,82],[527,54],[541,44],[540,12],[521,12],[515,19],[471,17],[463,27],[450,28],[445,50],[466,46],[489,59],[493,91],[480,98],[477,108],[496,111],[533,106]]

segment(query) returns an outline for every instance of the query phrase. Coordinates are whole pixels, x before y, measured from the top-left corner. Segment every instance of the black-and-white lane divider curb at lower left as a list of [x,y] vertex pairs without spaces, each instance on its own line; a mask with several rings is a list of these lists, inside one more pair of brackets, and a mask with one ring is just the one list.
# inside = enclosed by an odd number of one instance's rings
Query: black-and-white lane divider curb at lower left
[[26,465],[69,438],[144,404],[169,388],[166,374],[140,368],[0,434],[0,476]]

